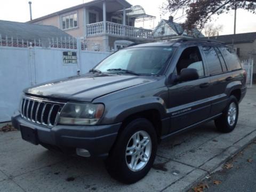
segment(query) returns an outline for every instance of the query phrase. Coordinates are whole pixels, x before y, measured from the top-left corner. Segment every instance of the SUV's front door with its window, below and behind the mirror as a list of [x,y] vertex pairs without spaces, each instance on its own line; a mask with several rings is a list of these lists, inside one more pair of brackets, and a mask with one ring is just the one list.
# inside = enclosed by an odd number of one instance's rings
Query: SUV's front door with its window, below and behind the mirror
[[197,46],[190,46],[183,50],[174,74],[179,75],[183,68],[197,69],[199,79],[169,86],[167,112],[171,117],[170,132],[194,125],[209,118],[210,115],[210,77],[206,75],[201,52]]

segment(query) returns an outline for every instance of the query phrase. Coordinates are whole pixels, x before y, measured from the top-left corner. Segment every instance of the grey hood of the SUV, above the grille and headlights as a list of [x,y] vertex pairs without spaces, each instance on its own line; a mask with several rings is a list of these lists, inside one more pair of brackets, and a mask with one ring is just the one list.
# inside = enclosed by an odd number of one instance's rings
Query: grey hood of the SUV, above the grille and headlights
[[38,97],[91,102],[102,95],[145,84],[152,79],[145,76],[84,74],[29,87],[24,92]]

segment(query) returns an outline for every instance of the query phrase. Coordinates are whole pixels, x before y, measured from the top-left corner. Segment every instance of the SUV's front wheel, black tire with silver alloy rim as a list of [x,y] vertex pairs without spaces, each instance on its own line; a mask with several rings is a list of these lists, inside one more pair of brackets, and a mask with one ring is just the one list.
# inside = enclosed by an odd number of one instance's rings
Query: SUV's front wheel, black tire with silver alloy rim
[[119,134],[106,159],[106,169],[111,177],[120,182],[137,182],[152,167],[156,150],[157,136],[153,124],[145,118],[135,119]]

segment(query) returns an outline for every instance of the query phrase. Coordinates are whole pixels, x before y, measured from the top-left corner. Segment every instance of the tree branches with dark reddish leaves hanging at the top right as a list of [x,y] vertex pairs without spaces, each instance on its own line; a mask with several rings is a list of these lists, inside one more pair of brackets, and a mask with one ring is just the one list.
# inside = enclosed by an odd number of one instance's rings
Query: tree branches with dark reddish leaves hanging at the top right
[[182,10],[186,15],[185,28],[203,29],[214,14],[219,15],[234,9],[245,9],[255,13],[256,0],[166,0],[162,9],[171,13]]

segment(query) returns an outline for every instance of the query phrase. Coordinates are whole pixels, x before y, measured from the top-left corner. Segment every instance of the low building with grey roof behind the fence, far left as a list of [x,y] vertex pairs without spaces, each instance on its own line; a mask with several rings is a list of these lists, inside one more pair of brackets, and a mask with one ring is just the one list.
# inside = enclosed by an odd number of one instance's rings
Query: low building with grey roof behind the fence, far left
[[52,38],[61,37],[63,39],[73,39],[71,35],[65,33],[54,26],[43,26],[30,23],[13,22],[0,20],[0,43],[1,46],[50,46]]

